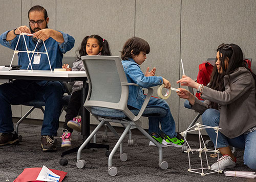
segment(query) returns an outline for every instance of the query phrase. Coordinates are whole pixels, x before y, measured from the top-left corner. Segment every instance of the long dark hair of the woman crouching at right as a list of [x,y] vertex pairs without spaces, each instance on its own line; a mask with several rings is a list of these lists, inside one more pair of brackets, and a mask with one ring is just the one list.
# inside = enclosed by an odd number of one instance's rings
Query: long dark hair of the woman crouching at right
[[[224,91],[225,90],[224,76],[228,75],[228,80],[229,80],[229,75],[235,70],[237,70],[239,67],[246,67],[246,62],[244,61],[242,49],[236,44],[225,44],[224,46],[221,46],[220,48],[218,48],[217,52],[218,51],[220,53],[219,55],[220,66],[222,67],[223,72],[218,73],[218,69],[215,64],[214,69],[212,70],[212,73],[211,73],[209,87],[214,90]],[[225,67],[225,63],[224,63],[225,60],[228,60],[227,68]],[[246,69],[248,68],[246,67]],[[248,70],[251,72],[250,69]],[[254,80],[256,80],[256,75],[253,72],[251,72],[251,74]],[[218,109],[217,103],[211,103],[211,107]]]

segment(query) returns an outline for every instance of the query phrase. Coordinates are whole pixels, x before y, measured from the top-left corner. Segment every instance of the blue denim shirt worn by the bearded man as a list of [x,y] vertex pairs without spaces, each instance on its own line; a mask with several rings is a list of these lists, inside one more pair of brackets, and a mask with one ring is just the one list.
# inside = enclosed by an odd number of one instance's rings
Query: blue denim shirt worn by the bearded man
[[[5,33],[3,33],[0,36],[0,43],[6,47],[9,47],[9,48],[15,50],[19,36],[16,36],[11,41],[7,41],[6,36],[7,36],[8,32],[10,32],[10,31],[6,31]],[[46,45],[46,48],[48,51],[52,69],[61,68],[63,54],[66,53],[67,51],[69,51],[71,48],[73,48],[74,43],[75,43],[75,39],[72,36],[65,34],[63,32],[60,32],[60,33],[62,34],[63,39],[64,39],[63,43],[59,43],[51,37],[45,41],[45,45]],[[32,36],[24,35],[24,37],[25,37],[25,40],[26,40],[26,43],[28,46],[28,50],[34,50],[37,41],[36,42],[33,41]],[[22,35],[20,35],[17,50],[20,50],[20,51],[25,50],[26,51],[26,46],[25,46],[24,38]],[[42,42],[38,43],[35,51],[45,53],[46,50],[45,50],[44,44]],[[47,55],[46,54],[40,54],[40,55],[41,55],[40,64],[33,64],[34,59],[32,58],[31,64],[32,64],[33,69],[34,70],[50,70]],[[30,53],[29,56],[31,57],[32,53]],[[6,61],[8,61],[8,60],[6,60]],[[11,60],[10,60],[10,63],[11,63]],[[13,63],[13,64],[15,65],[15,63]],[[22,66],[20,69],[27,69],[28,65],[29,65],[28,54],[27,53],[18,53],[18,63],[16,63],[16,64]],[[29,69],[31,69],[31,67],[29,67]]]

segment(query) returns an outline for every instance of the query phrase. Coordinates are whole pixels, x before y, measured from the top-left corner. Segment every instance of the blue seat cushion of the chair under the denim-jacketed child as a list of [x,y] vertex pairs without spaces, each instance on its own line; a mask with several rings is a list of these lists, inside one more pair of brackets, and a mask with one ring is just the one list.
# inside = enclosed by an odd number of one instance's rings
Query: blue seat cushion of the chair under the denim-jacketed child
[[[131,110],[131,112],[135,116],[139,114],[139,111],[140,110],[137,110],[137,109]],[[146,108],[142,116],[161,118],[166,116],[167,114],[166,112],[167,111],[163,108],[151,107],[151,108]],[[109,108],[101,108],[101,107],[92,107],[92,114],[96,116],[107,117],[107,118],[127,118],[127,116],[122,111],[109,109]]]

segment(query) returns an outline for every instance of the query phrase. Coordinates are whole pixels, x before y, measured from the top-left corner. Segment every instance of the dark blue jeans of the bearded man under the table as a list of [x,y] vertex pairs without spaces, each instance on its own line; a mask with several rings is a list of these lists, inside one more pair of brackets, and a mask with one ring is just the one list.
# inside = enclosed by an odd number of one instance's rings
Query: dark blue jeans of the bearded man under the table
[[11,105],[37,99],[45,102],[41,135],[57,136],[63,89],[60,82],[45,82],[40,86],[34,81],[15,80],[11,84],[0,85],[0,133],[14,131]]

